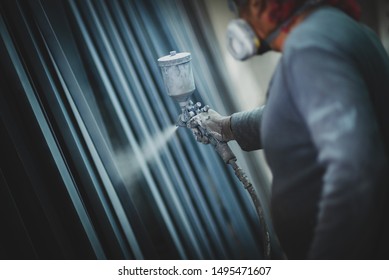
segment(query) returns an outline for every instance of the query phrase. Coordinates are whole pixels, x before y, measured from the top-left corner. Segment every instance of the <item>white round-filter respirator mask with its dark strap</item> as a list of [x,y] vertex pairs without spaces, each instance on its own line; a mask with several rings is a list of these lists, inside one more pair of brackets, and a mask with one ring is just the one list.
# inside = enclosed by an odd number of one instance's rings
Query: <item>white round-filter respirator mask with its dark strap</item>
[[[287,26],[291,20],[307,8],[317,6],[323,0],[308,0],[297,11],[295,11],[288,20],[281,23],[266,39],[258,38],[250,24],[244,19],[234,19],[227,26],[227,49],[237,60],[246,60],[255,55],[261,55],[269,50],[270,43],[281,33],[284,26]],[[230,10],[238,14],[238,8],[234,0],[228,0]]]

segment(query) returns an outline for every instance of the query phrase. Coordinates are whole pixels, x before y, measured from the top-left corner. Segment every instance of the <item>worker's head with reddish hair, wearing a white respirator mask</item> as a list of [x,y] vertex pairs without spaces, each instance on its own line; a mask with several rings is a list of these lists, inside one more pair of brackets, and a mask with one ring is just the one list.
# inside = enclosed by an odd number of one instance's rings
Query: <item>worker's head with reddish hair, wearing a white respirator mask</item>
[[357,0],[229,0],[229,6],[240,18],[227,29],[231,54],[245,60],[270,49],[280,32],[288,32],[289,20],[298,13],[318,5],[335,6],[359,19]]

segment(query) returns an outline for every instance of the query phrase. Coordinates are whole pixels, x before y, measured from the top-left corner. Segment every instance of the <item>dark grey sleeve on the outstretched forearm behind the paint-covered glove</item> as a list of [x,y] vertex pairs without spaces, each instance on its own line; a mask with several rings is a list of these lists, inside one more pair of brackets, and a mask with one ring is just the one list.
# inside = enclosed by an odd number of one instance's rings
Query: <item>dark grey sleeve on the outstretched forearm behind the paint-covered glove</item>
[[239,112],[231,116],[231,130],[235,140],[244,151],[262,148],[261,119],[263,106],[252,111]]

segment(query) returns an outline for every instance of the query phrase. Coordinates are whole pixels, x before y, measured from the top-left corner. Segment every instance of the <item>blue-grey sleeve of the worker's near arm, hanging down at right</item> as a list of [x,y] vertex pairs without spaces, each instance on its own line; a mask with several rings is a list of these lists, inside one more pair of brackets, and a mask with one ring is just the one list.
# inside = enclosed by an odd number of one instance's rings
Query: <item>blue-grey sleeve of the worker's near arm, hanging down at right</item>
[[351,60],[317,48],[295,51],[283,67],[325,170],[308,257],[368,258],[388,170],[368,88]]

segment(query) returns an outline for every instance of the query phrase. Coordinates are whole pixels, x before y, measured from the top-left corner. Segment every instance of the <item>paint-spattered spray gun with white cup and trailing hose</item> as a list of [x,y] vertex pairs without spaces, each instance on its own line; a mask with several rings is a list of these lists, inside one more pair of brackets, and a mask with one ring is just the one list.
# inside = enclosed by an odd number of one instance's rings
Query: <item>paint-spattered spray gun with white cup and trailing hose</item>
[[[170,55],[163,56],[158,59],[158,65],[161,68],[162,78],[166,86],[168,95],[173,98],[181,107],[181,114],[176,122],[177,126],[187,127],[187,123],[195,115],[202,112],[207,112],[209,106],[201,107],[201,103],[193,103],[190,99],[196,87],[193,78],[191,66],[191,54],[187,52],[177,53],[171,51]],[[257,211],[264,239],[264,256],[270,258],[270,234],[264,218],[263,208],[255,192],[251,182],[248,180],[244,171],[238,166],[236,156],[228,146],[227,142],[219,141],[208,133],[204,128],[197,128],[202,135],[207,137],[210,144],[215,148],[226,164],[229,164],[234,169],[235,175],[242,182],[245,189],[250,194]]]

